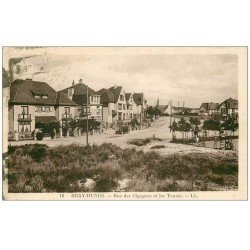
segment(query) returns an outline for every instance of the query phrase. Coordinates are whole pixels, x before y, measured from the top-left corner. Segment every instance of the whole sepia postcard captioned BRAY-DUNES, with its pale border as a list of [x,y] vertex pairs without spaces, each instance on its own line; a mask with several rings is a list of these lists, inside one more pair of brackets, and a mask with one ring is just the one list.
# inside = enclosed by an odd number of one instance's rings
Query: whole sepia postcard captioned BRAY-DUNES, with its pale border
[[3,200],[247,200],[247,47],[3,47]]

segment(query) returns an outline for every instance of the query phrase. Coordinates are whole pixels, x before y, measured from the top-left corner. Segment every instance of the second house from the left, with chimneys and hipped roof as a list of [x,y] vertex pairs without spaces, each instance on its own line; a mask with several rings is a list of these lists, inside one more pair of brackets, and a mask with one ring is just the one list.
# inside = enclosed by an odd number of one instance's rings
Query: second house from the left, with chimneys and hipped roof
[[78,105],[78,113],[75,118],[85,117],[93,118],[97,121],[102,121],[102,104],[101,95],[88,87],[88,110],[87,110],[87,85],[79,80],[79,83],[60,91],[67,95],[69,99]]

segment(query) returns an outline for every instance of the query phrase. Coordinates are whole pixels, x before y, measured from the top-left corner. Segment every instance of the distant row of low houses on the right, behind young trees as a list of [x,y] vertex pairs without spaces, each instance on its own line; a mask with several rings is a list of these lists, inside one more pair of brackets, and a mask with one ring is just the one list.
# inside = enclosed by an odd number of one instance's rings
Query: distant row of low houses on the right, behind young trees
[[173,105],[158,105],[163,114],[185,115],[194,114],[201,116],[221,115],[223,119],[238,114],[238,100],[228,98],[222,103],[204,102],[200,108],[175,107]]

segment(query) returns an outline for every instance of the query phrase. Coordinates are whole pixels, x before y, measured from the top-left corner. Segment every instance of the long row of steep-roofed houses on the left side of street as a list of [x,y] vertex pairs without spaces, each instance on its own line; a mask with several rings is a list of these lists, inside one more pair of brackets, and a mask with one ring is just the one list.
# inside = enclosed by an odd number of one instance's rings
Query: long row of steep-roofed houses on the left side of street
[[125,93],[122,86],[94,91],[81,79],[60,91],[45,82],[15,80],[9,96],[9,132],[32,132],[37,122],[62,122],[87,116],[106,125],[133,118],[141,123],[147,107],[143,93]]

